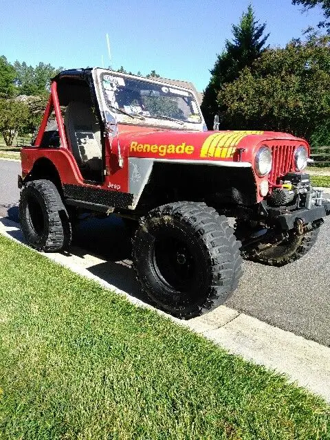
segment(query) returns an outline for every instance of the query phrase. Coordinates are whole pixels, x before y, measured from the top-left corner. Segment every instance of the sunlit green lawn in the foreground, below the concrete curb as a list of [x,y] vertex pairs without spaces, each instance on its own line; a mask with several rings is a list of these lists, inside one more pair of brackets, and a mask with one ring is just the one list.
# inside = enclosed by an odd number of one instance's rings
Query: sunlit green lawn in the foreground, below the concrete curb
[[0,439],[329,439],[322,399],[0,235]]

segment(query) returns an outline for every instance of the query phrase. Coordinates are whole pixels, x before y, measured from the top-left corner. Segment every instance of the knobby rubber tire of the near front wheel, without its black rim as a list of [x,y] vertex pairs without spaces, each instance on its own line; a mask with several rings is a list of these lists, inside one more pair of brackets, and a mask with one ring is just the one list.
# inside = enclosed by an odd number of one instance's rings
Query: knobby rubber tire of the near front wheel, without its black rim
[[[173,306],[170,309],[170,313],[177,316],[177,318],[193,318],[221,305],[238,286],[239,278],[243,274],[241,269],[243,259],[239,251],[241,243],[236,240],[234,230],[228,225],[226,217],[219,215],[214,208],[207,206],[206,203],[192,201],[168,203],[151,210],[146,217],[140,220],[140,228],[136,230],[135,236],[133,236],[134,262],[140,258],[139,241],[142,239],[141,234],[143,236],[148,228],[148,222],[166,215],[188,223],[193,233],[203,241],[203,245],[208,252],[210,285],[207,296],[201,298],[200,303],[193,306]],[[134,264],[137,281],[139,281],[147,296],[157,302],[153,298],[153,293],[148,292],[144,277],[139,273],[136,266]],[[157,305],[162,307],[159,302]],[[168,307],[166,307],[166,311],[169,311]]]

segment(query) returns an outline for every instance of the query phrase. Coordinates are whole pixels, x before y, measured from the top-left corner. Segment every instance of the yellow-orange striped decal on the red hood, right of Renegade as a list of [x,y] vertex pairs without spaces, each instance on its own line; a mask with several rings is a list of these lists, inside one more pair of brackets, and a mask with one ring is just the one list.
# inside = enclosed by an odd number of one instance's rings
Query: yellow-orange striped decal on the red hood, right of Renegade
[[215,133],[201,146],[201,157],[233,157],[236,147],[247,135],[262,135],[263,131],[230,131]]

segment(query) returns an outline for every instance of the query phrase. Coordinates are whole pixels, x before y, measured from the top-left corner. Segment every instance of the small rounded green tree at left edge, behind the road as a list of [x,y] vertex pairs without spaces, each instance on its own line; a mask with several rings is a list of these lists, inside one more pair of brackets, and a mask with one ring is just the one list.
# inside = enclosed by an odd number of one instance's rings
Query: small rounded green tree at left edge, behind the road
[[12,145],[16,135],[30,131],[31,116],[25,102],[0,98],[0,133],[6,145]]

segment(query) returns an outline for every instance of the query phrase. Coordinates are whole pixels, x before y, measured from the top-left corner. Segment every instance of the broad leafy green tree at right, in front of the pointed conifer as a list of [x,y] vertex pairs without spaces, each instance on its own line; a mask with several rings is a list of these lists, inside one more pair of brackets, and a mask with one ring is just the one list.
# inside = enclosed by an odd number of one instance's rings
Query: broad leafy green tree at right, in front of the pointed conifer
[[330,118],[330,36],[268,49],[219,92],[225,124],[235,129],[311,135]]

